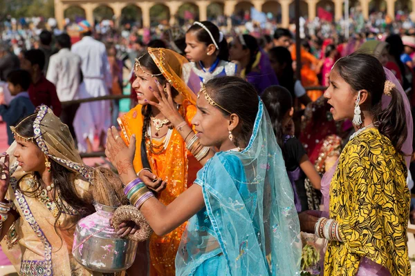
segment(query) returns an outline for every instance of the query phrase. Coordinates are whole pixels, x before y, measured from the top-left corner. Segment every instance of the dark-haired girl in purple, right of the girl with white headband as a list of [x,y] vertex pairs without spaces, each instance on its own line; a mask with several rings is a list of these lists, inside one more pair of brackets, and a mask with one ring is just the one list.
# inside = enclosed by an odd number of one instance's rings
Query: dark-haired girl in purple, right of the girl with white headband
[[258,41],[249,34],[240,34],[232,41],[230,59],[241,64],[241,77],[255,88],[259,95],[268,86],[278,85],[270,59],[266,52],[259,48]]

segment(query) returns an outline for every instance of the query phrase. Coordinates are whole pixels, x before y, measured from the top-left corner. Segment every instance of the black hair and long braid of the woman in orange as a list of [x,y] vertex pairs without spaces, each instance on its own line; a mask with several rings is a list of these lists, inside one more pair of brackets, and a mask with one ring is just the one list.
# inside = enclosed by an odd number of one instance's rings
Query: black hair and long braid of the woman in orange
[[[146,70],[148,70],[148,72],[151,73],[152,75],[161,74],[160,69],[157,67],[156,63],[151,58],[149,53],[147,53],[147,54],[143,55],[142,57],[140,57],[140,65],[143,68],[145,68]],[[160,82],[160,84],[162,86],[167,81],[163,75],[157,76],[157,80],[158,80],[158,82]],[[172,97],[174,98],[178,95],[178,91],[173,86],[171,86],[171,89],[172,89]],[[147,158],[147,150],[146,150],[146,146],[145,146],[145,134],[146,134],[147,128],[149,127],[149,124],[150,124],[151,106],[149,104],[147,104],[145,106],[142,106],[141,113],[142,113],[142,116],[144,117],[144,121],[143,121],[143,124],[142,124],[141,162],[142,162],[142,167],[143,168],[151,168],[149,160]]]

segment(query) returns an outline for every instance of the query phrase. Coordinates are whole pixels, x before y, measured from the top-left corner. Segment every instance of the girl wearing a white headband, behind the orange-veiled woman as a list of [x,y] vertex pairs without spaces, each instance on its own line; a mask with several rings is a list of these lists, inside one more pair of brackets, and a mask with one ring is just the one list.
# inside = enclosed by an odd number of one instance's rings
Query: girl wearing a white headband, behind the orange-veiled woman
[[233,76],[237,65],[229,62],[228,42],[210,21],[194,22],[186,33],[186,58],[183,80],[197,93],[201,85],[214,77]]

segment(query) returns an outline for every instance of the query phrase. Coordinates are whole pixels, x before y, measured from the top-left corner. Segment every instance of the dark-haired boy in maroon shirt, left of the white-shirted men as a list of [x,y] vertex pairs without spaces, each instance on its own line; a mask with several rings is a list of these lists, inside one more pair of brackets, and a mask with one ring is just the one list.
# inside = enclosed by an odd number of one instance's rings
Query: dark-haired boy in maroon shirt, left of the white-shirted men
[[53,113],[59,117],[62,106],[57,97],[55,85],[48,81],[42,72],[44,66],[45,55],[42,50],[28,50],[24,52],[20,60],[21,69],[27,70],[32,76],[32,83],[28,88],[30,101],[34,106],[45,104],[52,108]]

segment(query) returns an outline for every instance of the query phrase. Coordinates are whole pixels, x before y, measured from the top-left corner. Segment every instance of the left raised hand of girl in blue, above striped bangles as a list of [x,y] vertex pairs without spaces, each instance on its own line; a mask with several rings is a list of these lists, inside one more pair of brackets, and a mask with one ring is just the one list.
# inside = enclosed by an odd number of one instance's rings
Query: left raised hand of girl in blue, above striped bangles
[[116,166],[118,173],[124,184],[129,183],[136,178],[136,172],[133,167],[134,153],[136,152],[136,136],[132,135],[127,147],[122,141],[120,134],[115,126],[107,131],[107,148],[105,155],[109,161]]

